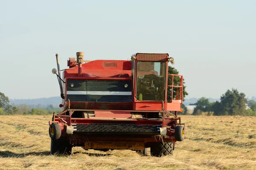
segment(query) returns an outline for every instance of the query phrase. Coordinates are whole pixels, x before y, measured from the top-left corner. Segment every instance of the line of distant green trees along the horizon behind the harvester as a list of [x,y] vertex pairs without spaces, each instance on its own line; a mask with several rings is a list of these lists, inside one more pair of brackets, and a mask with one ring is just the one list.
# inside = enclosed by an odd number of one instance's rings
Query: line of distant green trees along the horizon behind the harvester
[[[177,73],[176,73],[177,74]],[[187,95],[188,93],[185,93]],[[184,96],[185,96],[184,95]],[[183,99],[185,98],[183,96]],[[201,97],[195,105],[192,115],[205,116],[256,116],[256,101],[245,98],[244,93],[239,93],[237,89],[227,90],[220,98],[220,102],[209,102],[209,99]],[[181,105],[183,112],[178,114],[187,114],[185,105]],[[9,98],[0,92],[0,115],[24,114],[24,115],[46,115],[53,112],[61,112],[60,108],[54,108],[53,105],[10,105]]]

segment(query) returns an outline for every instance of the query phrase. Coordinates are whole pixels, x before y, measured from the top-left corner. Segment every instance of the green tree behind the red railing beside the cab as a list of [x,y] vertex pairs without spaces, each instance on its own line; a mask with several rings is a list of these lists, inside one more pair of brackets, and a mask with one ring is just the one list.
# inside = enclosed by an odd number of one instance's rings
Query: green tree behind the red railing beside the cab
[[[176,68],[173,68],[171,66],[168,67],[168,74],[179,74],[179,71],[177,71]],[[184,79],[183,79],[183,101],[185,100],[185,97],[188,95],[188,93],[186,92],[186,86],[184,85],[185,82],[184,82]],[[172,85],[172,77],[169,76],[168,77],[168,85]],[[173,78],[173,85],[180,85],[180,77],[177,77],[177,76],[174,76]],[[172,88],[167,88],[168,91],[167,91],[167,99],[169,100],[170,102],[170,97],[172,96]],[[173,88],[173,94],[177,94],[177,90],[178,88]],[[173,97],[176,97],[176,96],[173,96]]]

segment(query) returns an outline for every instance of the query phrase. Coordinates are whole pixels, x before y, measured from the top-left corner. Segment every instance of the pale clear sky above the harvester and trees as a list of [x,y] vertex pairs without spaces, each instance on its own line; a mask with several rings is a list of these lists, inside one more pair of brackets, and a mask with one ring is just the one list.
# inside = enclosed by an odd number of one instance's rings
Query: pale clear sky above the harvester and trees
[[256,96],[255,0],[1,0],[0,92],[10,99],[59,96],[61,69],[84,59],[169,53],[191,97],[237,88]]

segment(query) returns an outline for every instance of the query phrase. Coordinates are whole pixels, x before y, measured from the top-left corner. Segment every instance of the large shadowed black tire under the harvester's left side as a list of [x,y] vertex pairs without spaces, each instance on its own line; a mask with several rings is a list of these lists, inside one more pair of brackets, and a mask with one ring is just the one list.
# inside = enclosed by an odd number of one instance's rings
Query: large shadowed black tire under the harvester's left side
[[70,155],[72,153],[72,144],[69,140],[51,139],[51,154],[66,154]]

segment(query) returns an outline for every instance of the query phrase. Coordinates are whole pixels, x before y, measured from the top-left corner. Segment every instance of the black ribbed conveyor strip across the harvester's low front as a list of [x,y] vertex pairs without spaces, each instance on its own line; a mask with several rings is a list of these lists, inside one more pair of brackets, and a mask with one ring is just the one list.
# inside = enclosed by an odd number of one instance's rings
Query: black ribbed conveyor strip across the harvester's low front
[[[161,125],[137,125],[137,124],[73,124],[74,133],[108,133],[108,134],[160,134]],[[75,130],[76,129],[76,130]]]

